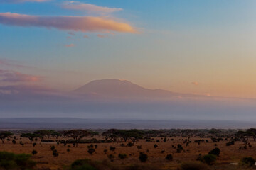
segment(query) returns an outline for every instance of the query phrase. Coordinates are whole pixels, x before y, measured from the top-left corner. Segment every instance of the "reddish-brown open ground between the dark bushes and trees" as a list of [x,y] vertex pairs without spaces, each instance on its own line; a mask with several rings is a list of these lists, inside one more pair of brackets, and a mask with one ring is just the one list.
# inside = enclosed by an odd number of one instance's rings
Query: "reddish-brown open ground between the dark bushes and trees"
[[[160,142],[146,142],[145,140],[139,140],[132,147],[122,147],[120,146],[122,142],[97,143],[94,144],[97,145],[97,149],[92,155],[87,152],[87,146],[90,144],[79,144],[78,147],[73,147],[71,144],[64,146],[63,144],[57,145],[56,142],[36,142],[37,145],[33,147],[30,141],[24,138],[22,139],[22,142],[24,143],[23,146],[19,144],[19,140],[17,140],[16,144],[13,144],[11,141],[6,141],[4,144],[0,145],[0,150],[31,154],[33,149],[35,149],[38,154],[33,156],[32,159],[38,162],[36,169],[52,170],[63,169],[63,166],[70,166],[76,159],[110,161],[107,157],[109,154],[114,155],[111,164],[115,165],[154,164],[154,166],[159,166],[163,169],[177,169],[182,162],[195,161],[199,154],[208,154],[208,152],[215,147],[220,149],[220,157],[218,157],[218,160],[215,163],[215,169],[241,169],[235,165],[231,165],[231,163],[240,162],[242,157],[256,157],[256,142],[253,140],[250,140],[250,145],[252,145],[252,147],[239,149],[240,147],[244,147],[243,142],[235,142],[235,145],[227,147],[225,144],[228,141],[214,143],[210,139],[203,138],[209,142],[201,142],[200,145],[198,145],[198,142],[194,142],[194,140],[201,140],[202,138],[191,137],[191,143],[186,146],[183,144],[183,140],[185,140],[186,137],[168,137],[167,139],[166,142],[164,142],[161,137],[154,138],[154,141],[160,140]],[[127,144],[127,142],[123,143],[124,145]],[[158,145],[158,147],[154,148],[155,144]],[[176,153],[176,149],[172,147],[172,145],[176,147],[178,144],[183,146],[183,151],[181,153]],[[50,150],[50,146],[53,145],[59,153],[58,157],[53,157],[53,152]],[[67,152],[68,145],[70,145],[70,152]],[[142,149],[138,149],[137,145],[142,145]],[[110,146],[116,147],[116,149],[112,152],[109,149]],[[104,152],[105,149],[107,149],[107,153]],[[139,152],[148,154],[149,158],[146,163],[139,162]],[[127,158],[119,159],[118,154],[127,154]],[[165,157],[167,154],[172,154],[174,159],[172,161],[166,160]]]

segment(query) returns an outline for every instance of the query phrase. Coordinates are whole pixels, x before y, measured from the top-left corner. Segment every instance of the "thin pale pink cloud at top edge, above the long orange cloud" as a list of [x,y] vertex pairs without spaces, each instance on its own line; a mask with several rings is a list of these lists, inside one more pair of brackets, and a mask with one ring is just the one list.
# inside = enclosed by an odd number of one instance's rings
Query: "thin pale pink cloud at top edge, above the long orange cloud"
[[80,10],[80,11],[89,11],[94,13],[113,13],[117,11],[122,11],[122,8],[108,8],[102,6],[96,6],[93,4],[84,4],[79,1],[64,1],[61,5],[62,8]]

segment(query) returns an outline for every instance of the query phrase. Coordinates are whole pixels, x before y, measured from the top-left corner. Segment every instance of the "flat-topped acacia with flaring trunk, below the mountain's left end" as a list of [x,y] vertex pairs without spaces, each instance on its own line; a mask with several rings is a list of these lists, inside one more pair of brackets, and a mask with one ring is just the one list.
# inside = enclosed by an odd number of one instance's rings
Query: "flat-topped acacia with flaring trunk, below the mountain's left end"
[[64,133],[64,135],[67,137],[72,137],[75,142],[75,146],[78,147],[78,142],[82,140],[82,137],[89,136],[90,132],[87,130],[68,130]]

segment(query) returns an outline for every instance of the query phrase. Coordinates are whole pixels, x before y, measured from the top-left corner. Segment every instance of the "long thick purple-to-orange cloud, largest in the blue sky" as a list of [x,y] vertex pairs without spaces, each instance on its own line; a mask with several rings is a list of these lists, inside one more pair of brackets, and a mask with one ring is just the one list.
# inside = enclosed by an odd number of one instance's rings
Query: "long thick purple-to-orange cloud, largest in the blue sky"
[[137,33],[137,30],[128,23],[95,16],[30,16],[0,13],[0,23],[6,26],[56,28],[81,32]]

